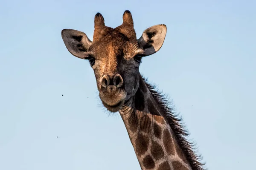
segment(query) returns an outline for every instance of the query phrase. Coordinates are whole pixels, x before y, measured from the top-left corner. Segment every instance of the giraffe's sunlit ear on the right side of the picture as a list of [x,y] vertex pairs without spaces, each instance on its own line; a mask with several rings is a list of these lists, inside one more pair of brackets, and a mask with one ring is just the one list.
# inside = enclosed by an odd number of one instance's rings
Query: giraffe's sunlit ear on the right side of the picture
[[166,37],[166,25],[160,24],[146,29],[137,40],[143,47],[144,55],[149,56],[157,52],[163,45]]

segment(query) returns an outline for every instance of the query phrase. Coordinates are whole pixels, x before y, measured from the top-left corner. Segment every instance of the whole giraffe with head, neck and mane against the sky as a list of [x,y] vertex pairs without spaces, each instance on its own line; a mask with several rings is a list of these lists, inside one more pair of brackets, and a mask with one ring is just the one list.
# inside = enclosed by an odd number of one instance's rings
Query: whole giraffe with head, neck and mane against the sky
[[166,25],[155,25],[137,39],[126,10],[116,28],[97,13],[93,41],[73,29],[63,29],[61,37],[73,56],[89,60],[99,98],[108,111],[119,112],[142,170],[203,170],[181,118],[139,71],[142,58],[162,47],[166,31]]

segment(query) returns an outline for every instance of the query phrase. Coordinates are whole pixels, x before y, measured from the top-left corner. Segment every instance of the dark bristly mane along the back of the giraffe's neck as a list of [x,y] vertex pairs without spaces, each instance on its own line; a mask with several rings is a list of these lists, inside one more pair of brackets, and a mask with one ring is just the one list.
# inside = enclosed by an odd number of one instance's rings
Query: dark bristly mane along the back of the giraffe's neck
[[[143,76],[142,76],[143,77]],[[151,85],[148,83],[148,80],[143,77],[143,80],[148,87],[151,95],[157,102],[160,109],[165,113],[166,119],[169,123],[169,126],[173,130],[177,142],[179,143],[183,153],[191,164],[192,170],[205,170],[203,166],[205,163],[201,163],[202,160],[201,154],[198,156],[195,153],[195,143],[189,142],[187,137],[189,136],[189,132],[186,129],[185,125],[182,123],[182,117],[179,114],[175,113],[174,106],[172,102],[166,99],[165,94],[159,92],[155,85]]]

